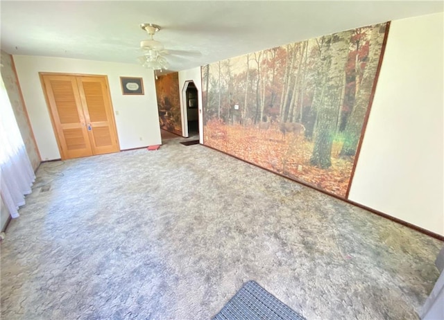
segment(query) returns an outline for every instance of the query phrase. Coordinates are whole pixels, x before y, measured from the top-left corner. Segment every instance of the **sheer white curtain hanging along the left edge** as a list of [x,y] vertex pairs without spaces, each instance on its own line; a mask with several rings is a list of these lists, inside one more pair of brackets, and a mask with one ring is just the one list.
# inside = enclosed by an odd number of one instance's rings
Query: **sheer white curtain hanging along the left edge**
[[0,82],[0,195],[11,217],[18,217],[35,175],[1,77]]

